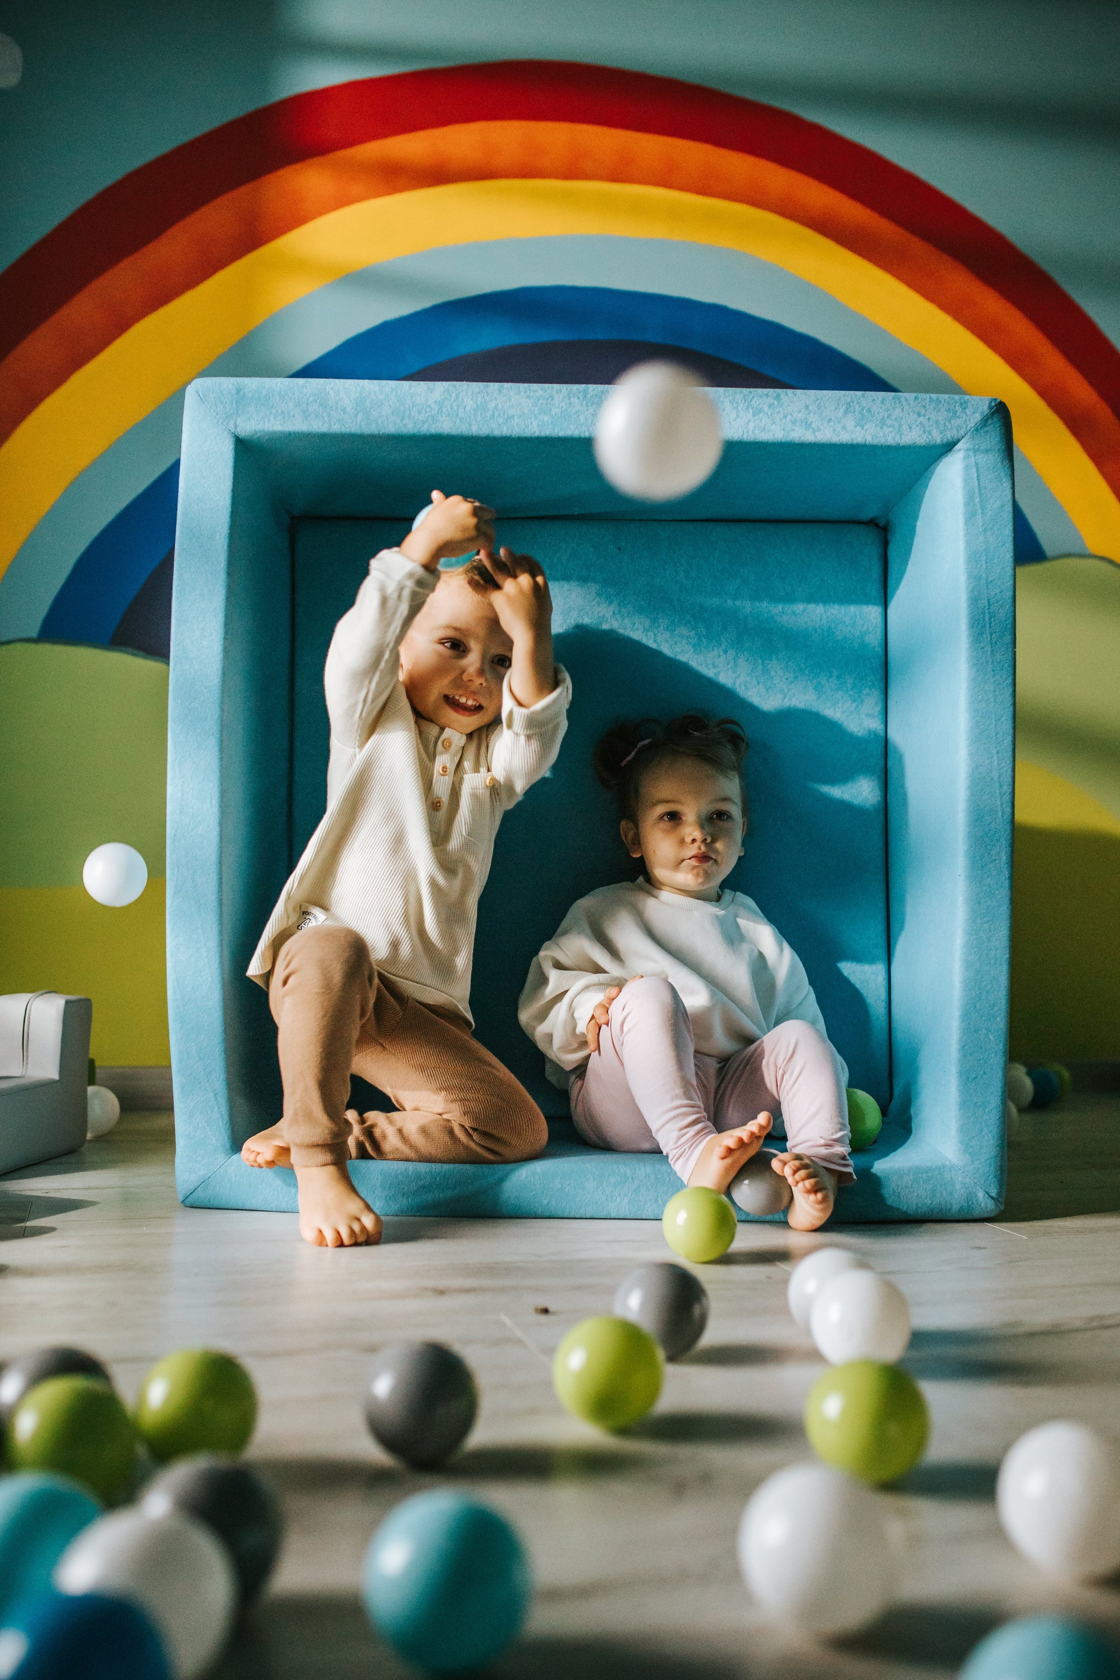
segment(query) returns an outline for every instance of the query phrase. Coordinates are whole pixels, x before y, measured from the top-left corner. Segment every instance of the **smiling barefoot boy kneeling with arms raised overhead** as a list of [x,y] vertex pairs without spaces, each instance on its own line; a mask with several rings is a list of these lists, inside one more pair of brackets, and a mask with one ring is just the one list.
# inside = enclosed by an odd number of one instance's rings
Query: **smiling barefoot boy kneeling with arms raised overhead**
[[[326,1248],[381,1236],[348,1159],[524,1161],[547,1141],[470,1035],[470,959],[497,825],[556,759],[571,684],[541,566],[494,551],[494,509],[432,502],[334,630],[326,816],[249,966],[277,1023],[284,1117],[242,1158],[294,1168],[301,1235]],[[398,1112],[348,1109],[351,1070]]]

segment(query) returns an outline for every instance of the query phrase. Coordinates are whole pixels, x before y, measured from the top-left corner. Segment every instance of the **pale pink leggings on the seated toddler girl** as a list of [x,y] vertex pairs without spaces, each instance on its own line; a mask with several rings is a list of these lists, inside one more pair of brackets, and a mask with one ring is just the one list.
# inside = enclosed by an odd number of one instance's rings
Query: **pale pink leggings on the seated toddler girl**
[[851,1181],[848,1100],[830,1042],[808,1021],[782,1021],[725,1062],[697,1055],[680,993],[658,978],[631,979],[615,998],[571,1085],[581,1137],[625,1154],[660,1149],[685,1183],[709,1137],[764,1109],[784,1122],[791,1151]]

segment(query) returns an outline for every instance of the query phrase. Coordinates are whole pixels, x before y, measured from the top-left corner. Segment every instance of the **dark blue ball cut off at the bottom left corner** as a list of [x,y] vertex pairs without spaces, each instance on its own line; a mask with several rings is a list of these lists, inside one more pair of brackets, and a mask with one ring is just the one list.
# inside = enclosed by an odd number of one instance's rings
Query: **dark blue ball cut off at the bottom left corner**
[[123,1598],[40,1593],[0,1618],[3,1680],[171,1680],[151,1620]]

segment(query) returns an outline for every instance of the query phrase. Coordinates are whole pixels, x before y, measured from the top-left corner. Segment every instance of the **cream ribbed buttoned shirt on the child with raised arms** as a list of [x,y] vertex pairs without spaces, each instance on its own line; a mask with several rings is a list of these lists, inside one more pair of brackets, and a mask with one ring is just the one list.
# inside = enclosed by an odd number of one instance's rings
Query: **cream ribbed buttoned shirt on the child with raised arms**
[[327,810],[249,964],[262,986],[301,922],[339,922],[410,996],[470,1020],[475,919],[497,825],[556,759],[571,682],[557,667],[552,694],[519,706],[507,677],[500,717],[474,734],[416,719],[400,645],[437,583],[400,549],[383,549],[336,625],[324,675]]

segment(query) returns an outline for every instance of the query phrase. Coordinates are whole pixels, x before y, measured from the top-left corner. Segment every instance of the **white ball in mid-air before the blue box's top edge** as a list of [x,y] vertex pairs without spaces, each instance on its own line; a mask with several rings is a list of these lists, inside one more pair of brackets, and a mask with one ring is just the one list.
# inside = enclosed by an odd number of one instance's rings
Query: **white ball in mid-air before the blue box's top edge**
[[693,373],[672,361],[628,368],[599,408],[599,472],[636,501],[687,496],[715,472],[722,452],[715,403]]

